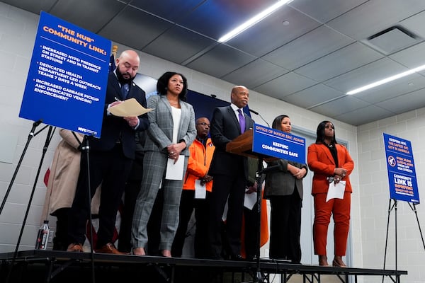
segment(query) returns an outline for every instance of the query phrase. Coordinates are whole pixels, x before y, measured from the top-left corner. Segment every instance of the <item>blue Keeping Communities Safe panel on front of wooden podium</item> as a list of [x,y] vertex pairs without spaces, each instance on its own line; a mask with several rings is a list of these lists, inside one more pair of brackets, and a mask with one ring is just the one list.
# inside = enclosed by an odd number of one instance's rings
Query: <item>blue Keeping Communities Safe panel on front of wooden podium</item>
[[266,156],[305,163],[305,138],[254,124],[252,151]]

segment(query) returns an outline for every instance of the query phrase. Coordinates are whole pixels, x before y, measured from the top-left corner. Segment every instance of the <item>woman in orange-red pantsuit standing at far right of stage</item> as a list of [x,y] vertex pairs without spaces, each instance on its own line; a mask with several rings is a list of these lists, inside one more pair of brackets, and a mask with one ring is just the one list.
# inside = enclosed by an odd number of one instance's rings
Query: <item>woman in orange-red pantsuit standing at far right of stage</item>
[[[354,163],[346,147],[336,142],[335,128],[331,122],[323,121],[317,126],[316,143],[308,147],[307,163],[314,172],[314,254],[319,255],[319,265],[329,265],[326,253],[327,231],[333,214],[335,255],[332,265],[346,267],[342,257],[346,255],[352,192],[348,176],[353,171]],[[344,198],[327,202],[329,184],[340,181],[346,182]]]

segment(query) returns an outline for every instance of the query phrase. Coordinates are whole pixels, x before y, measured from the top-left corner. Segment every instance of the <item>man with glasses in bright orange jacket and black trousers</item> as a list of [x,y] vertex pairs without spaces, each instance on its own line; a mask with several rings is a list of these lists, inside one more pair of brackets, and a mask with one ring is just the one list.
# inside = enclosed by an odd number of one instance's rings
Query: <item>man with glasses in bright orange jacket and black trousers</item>
[[179,228],[171,248],[173,257],[181,257],[188,222],[195,209],[195,257],[208,257],[208,197],[212,190],[212,176],[208,175],[212,154],[215,146],[208,137],[210,120],[200,117],[196,120],[196,139],[189,147],[191,155],[188,159],[188,169],[184,177],[183,192],[180,200]]

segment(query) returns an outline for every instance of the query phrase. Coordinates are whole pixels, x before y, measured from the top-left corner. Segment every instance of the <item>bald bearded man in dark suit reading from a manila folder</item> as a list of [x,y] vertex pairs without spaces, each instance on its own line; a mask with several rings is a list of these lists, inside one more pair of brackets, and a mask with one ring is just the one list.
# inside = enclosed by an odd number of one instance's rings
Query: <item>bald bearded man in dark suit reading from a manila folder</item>
[[[87,180],[90,177],[90,197],[94,196],[96,187],[102,184],[98,240],[96,247],[93,248],[96,253],[121,254],[111,243],[115,218],[132,160],[135,158],[135,132],[147,129],[149,120],[146,114],[138,117],[117,117],[109,112],[109,108],[130,98],[135,98],[140,105],[146,107],[145,91],[132,81],[137,74],[139,64],[140,57],[137,52],[125,50],[116,59],[115,71],[108,76],[101,138],[88,138],[89,162],[86,153],[81,154],[77,191],[69,212],[68,251],[83,251],[86,220],[90,213],[87,190]],[[87,175],[87,163],[89,163],[90,176]]]

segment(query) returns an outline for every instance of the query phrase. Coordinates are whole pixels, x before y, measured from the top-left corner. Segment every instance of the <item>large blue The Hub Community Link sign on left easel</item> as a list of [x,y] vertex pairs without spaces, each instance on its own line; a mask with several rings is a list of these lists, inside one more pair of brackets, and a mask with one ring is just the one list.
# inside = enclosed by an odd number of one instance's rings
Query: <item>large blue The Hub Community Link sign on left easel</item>
[[111,41],[40,14],[19,117],[101,137]]

